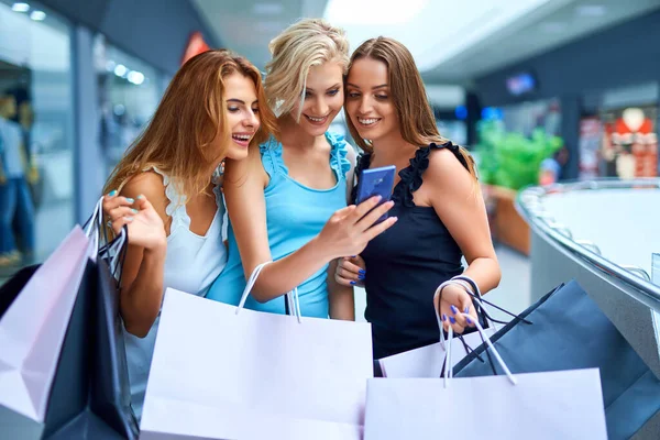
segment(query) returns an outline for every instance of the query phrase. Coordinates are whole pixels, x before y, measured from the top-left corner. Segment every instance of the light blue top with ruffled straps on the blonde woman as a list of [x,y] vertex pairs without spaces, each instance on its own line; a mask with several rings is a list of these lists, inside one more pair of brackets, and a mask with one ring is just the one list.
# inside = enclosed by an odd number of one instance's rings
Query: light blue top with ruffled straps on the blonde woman
[[[271,178],[264,189],[264,197],[273,261],[280,260],[308,243],[321,231],[334,211],[346,206],[345,176],[351,168],[346,153],[351,146],[338,134],[328,132],[326,139],[331,145],[330,167],[337,176],[337,185],[330,189],[309,188],[289,177],[282,158],[282,143],[274,138],[260,145],[262,164]],[[209,289],[207,298],[238,306],[245,288],[245,275],[231,223],[228,240],[227,266]],[[302,316],[328,318],[327,271],[328,265],[324,265],[298,286]],[[245,308],[285,314],[284,296],[265,304],[248,297]]]

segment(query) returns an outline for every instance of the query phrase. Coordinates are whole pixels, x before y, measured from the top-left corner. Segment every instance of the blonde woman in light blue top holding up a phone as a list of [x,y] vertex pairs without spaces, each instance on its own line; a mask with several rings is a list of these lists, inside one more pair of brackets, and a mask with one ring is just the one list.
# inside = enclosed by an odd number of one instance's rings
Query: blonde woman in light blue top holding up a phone
[[285,314],[283,294],[297,287],[302,316],[353,320],[353,288],[334,283],[336,258],[360,253],[396,218],[374,224],[392,207],[372,211],[375,198],[346,207],[355,153],[328,128],[343,106],[349,44],[342,30],[307,19],[271,52],[265,90],[280,135],[227,163],[229,261],[207,298],[238,304],[252,271],[274,261],[245,307]]

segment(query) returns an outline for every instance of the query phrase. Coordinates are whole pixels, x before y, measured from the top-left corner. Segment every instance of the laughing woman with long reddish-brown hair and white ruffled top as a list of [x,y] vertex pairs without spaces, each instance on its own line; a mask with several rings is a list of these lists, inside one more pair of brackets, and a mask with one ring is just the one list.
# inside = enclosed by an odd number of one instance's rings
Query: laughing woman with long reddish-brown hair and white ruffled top
[[120,311],[132,406],[144,393],[167,287],[204,296],[227,263],[216,169],[248,157],[274,128],[258,70],[227,51],[188,61],[106,184],[112,229],[129,224]]

